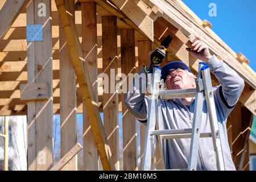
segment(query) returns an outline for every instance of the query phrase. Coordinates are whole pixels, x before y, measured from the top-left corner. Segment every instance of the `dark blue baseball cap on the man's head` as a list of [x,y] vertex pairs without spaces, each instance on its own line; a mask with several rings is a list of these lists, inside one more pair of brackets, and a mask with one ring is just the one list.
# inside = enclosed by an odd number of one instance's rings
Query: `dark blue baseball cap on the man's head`
[[164,64],[161,71],[161,79],[166,81],[166,76],[170,72],[170,69],[186,69],[187,71],[191,72],[191,69],[182,61],[171,61],[170,63]]

